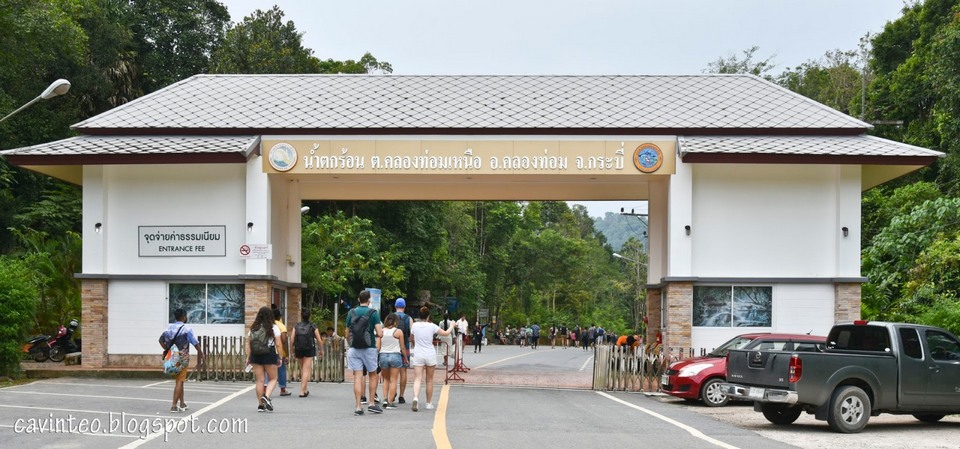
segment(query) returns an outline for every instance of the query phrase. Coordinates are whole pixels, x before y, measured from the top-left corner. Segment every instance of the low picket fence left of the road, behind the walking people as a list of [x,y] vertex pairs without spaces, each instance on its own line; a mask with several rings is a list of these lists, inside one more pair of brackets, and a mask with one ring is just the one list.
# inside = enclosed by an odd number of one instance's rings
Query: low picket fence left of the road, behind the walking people
[[[200,337],[203,350],[203,365],[191,373],[196,380],[252,381],[253,373],[246,368],[245,337]],[[323,357],[314,357],[310,371],[312,382],[343,382],[345,345],[343,338],[328,338],[323,341]],[[300,381],[300,363],[290,359],[287,380]]]

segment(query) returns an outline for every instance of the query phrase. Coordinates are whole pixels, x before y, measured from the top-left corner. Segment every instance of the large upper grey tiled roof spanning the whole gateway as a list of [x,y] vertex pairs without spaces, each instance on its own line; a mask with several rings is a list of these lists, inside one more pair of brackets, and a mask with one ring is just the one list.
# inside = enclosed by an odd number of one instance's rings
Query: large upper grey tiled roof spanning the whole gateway
[[752,75],[197,75],[75,127],[88,134],[178,129],[859,134],[870,125]]

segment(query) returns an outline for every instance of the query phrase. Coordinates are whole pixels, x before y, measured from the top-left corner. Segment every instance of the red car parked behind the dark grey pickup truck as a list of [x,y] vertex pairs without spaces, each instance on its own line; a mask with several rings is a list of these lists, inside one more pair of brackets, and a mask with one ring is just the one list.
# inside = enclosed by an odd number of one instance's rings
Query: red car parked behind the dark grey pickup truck
[[760,348],[819,352],[826,341],[827,337],[805,334],[738,335],[703,357],[671,363],[660,378],[660,391],[689,401],[699,399],[710,407],[727,405],[729,399],[720,391],[720,383],[727,375],[727,351]]

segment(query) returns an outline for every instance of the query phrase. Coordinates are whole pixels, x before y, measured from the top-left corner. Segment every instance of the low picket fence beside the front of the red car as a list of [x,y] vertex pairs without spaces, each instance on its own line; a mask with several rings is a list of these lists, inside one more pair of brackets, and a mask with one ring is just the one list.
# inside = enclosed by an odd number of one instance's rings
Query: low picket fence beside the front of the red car
[[664,348],[660,345],[597,345],[594,348],[593,389],[597,391],[660,390],[660,378],[670,363],[705,355],[706,349]]

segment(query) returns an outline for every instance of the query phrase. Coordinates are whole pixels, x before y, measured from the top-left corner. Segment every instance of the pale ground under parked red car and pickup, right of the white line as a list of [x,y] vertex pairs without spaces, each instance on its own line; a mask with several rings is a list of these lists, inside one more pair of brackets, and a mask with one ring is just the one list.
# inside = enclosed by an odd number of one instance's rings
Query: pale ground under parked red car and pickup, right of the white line
[[922,423],[910,415],[871,416],[863,432],[852,436],[830,430],[826,421],[817,421],[813,415],[803,414],[789,426],[771,424],[763,414],[753,411],[753,404],[733,402],[726,407],[707,407],[666,397],[662,402],[694,411],[718,421],[756,432],[771,440],[782,441],[805,449],[933,449],[958,448],[960,442],[960,415],[949,415],[935,424]]

